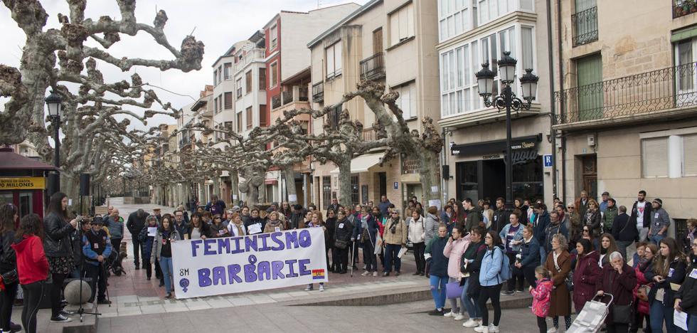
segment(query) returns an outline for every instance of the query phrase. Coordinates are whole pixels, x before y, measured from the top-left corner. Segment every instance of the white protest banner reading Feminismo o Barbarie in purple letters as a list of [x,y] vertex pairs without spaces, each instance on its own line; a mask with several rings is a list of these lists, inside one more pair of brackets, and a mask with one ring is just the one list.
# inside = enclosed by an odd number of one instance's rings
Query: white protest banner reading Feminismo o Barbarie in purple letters
[[324,231],[307,228],[172,243],[176,298],[327,282]]

